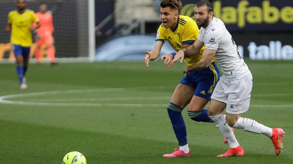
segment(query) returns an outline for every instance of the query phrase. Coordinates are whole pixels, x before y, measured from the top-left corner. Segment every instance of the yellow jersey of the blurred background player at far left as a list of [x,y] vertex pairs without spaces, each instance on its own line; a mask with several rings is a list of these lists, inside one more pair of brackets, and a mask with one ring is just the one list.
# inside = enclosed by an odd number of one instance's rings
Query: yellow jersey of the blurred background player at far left
[[8,13],[8,23],[11,24],[10,43],[23,47],[32,45],[32,33],[29,29],[33,22],[38,22],[39,19],[35,12],[25,9],[24,13],[20,14],[17,10]]

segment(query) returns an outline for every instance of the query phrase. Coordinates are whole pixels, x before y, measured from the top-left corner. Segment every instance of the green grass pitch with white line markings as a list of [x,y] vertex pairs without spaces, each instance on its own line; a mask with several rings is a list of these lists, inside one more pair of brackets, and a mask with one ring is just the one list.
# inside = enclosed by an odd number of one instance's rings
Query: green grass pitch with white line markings
[[178,147],[166,105],[183,76],[179,62],[30,64],[25,91],[15,64],[0,64],[0,97],[21,94],[0,104],[0,163],[61,164],[70,151],[83,153],[88,164],[293,163],[293,62],[246,63],[254,84],[242,116],[285,130],[279,156],[268,137],[235,129],[245,155],[216,158],[229,145],[214,123],[191,120],[185,108],[191,156],[163,158]]

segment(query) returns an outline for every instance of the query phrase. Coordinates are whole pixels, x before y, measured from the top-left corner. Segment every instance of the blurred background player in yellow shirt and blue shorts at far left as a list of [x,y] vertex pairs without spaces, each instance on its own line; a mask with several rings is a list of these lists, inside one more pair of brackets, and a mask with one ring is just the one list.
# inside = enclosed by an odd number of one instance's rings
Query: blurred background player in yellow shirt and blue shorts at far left
[[[30,46],[32,45],[32,31],[40,27],[39,19],[35,12],[26,8],[25,0],[16,1],[17,10],[8,13],[8,25],[5,32],[11,30],[10,43],[16,58],[16,71],[20,82],[20,88],[26,89],[25,72],[28,69]],[[37,26],[32,26],[33,22]]]

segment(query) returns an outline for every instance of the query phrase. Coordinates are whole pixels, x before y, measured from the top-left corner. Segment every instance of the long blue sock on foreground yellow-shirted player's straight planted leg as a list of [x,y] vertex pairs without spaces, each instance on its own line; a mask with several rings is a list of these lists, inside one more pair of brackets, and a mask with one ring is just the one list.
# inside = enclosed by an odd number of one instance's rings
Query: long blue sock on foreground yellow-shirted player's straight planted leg
[[183,109],[180,106],[177,106],[172,102],[170,102],[167,106],[169,118],[171,120],[179,146],[184,146],[187,144],[186,126],[181,114],[182,110]]

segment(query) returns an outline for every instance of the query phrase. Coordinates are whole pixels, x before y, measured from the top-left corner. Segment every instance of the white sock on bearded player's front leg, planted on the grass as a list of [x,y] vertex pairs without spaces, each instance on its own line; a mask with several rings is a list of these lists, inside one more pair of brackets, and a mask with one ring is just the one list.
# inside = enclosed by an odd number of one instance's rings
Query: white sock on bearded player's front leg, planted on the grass
[[215,116],[209,116],[209,118],[211,118],[214,123],[216,123],[216,127],[219,129],[222,135],[227,138],[230,148],[236,148],[239,146],[239,143],[236,140],[231,127],[226,123],[226,117],[223,113]]

